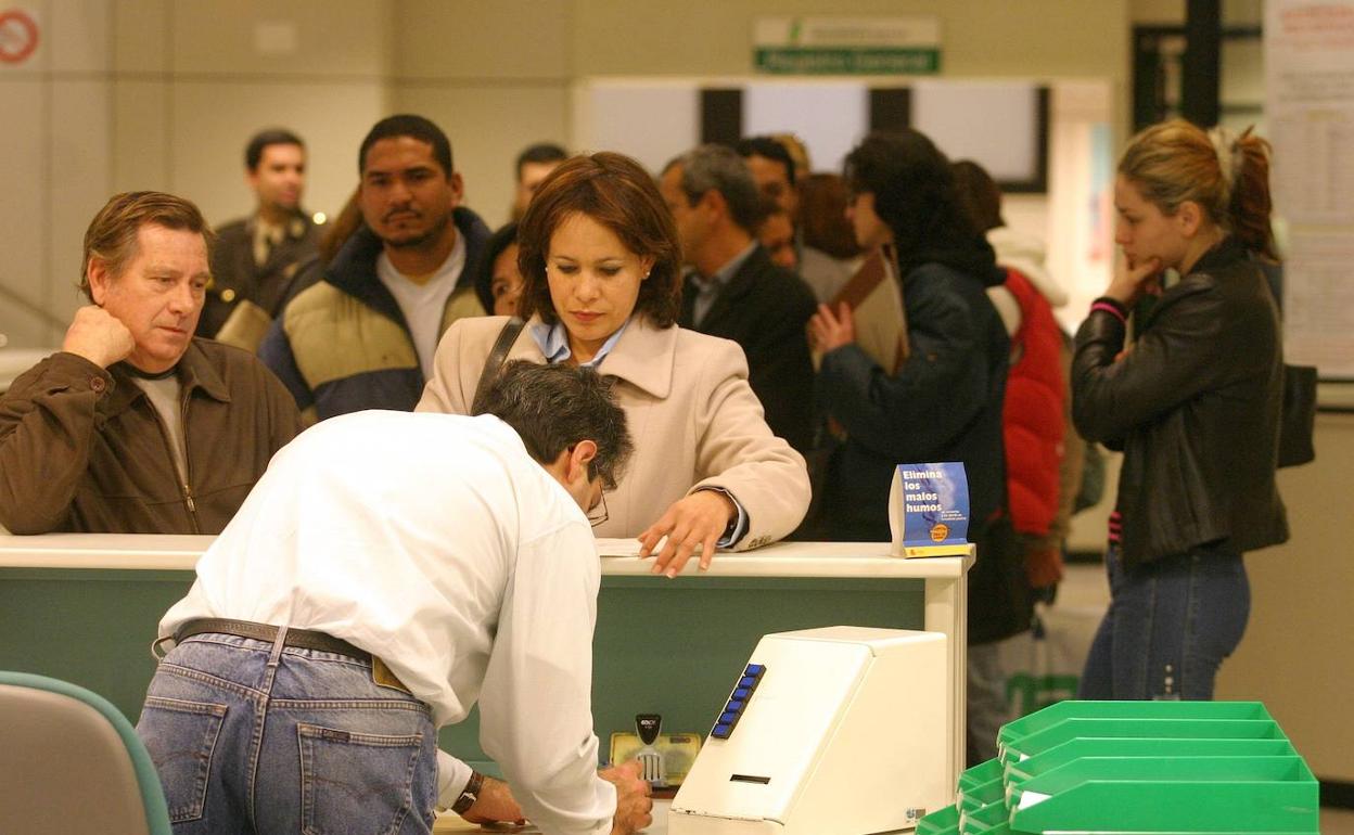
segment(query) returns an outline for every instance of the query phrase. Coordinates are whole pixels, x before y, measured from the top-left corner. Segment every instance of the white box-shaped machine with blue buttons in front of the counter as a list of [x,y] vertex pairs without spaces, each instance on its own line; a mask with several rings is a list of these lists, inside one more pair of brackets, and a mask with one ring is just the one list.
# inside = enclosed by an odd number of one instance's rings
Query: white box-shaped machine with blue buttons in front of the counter
[[768,635],[673,798],[669,835],[871,835],[952,801],[945,636]]

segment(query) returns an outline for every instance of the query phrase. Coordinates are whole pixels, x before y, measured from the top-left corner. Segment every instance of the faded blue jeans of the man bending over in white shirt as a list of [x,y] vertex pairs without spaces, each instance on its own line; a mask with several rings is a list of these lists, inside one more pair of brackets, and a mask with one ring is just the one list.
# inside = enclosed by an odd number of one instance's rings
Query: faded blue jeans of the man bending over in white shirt
[[160,662],[137,734],[176,835],[431,832],[428,705],[347,655],[232,635]]

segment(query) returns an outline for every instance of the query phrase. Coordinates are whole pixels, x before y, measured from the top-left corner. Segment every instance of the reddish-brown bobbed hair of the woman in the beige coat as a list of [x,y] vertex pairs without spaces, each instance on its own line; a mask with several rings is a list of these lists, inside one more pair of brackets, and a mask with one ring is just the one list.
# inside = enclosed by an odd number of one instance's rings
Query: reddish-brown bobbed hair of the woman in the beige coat
[[559,164],[540,184],[517,227],[517,268],[523,291],[520,315],[559,321],[546,280],[550,238],[573,214],[585,214],[609,229],[626,249],[650,257],[654,267],[639,283],[635,313],[658,328],[677,323],[681,313],[681,242],[672,212],[653,176],[624,154],[601,152]]

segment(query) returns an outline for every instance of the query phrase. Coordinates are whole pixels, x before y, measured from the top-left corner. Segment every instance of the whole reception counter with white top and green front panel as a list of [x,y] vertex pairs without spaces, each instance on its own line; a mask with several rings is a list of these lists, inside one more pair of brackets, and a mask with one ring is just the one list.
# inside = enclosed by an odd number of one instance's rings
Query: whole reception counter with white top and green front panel
[[[0,536],[0,669],[51,675],[106,696],[135,721],[154,673],[160,616],[192,583],[210,536]],[[944,686],[953,740],[946,773],[964,761],[965,572],[952,556],[898,559],[887,544],[781,543],[692,560],[677,579],[650,574],[628,540],[600,540],[603,585],[593,641],[593,716],[603,751],[635,713],[663,729],[704,735],[735,674],[768,632],[849,624],[927,629],[951,637]],[[906,693],[899,693],[906,709]],[[489,767],[478,716],[443,729],[443,747]]]

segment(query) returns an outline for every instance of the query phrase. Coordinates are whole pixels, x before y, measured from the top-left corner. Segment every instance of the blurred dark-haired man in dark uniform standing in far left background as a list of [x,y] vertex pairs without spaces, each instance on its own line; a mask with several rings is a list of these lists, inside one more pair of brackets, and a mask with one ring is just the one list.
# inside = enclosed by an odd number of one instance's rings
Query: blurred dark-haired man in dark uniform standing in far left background
[[257,351],[274,317],[299,291],[315,260],[320,227],[302,210],[306,146],[290,130],[260,131],[245,146],[245,183],[257,208],[217,229],[211,284],[198,336]]

